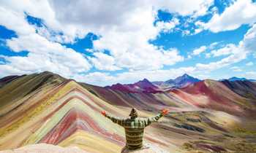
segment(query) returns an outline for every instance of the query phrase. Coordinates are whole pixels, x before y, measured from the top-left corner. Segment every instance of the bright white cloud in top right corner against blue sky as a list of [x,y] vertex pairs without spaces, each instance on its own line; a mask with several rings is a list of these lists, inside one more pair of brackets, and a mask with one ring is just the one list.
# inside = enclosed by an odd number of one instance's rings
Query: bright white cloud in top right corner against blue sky
[[235,1],[227,7],[221,15],[215,13],[208,23],[197,23],[197,25],[213,32],[230,31],[239,28],[243,24],[256,22],[256,4],[251,0]]

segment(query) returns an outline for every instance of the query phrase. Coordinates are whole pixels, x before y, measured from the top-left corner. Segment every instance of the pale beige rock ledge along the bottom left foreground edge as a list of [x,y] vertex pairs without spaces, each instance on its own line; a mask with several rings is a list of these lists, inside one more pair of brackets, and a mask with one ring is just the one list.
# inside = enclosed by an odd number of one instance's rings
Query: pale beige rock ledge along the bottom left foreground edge
[[54,146],[52,144],[33,144],[29,146],[23,146],[18,149],[9,149],[0,151],[0,153],[89,153],[78,147],[61,147]]

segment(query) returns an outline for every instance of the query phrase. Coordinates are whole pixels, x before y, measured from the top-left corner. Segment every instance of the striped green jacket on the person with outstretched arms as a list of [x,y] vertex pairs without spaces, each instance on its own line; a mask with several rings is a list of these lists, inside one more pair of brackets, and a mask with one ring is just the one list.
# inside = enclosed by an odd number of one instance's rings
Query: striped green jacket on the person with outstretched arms
[[114,123],[121,125],[125,129],[125,137],[127,139],[126,146],[128,149],[139,149],[143,146],[143,133],[144,128],[150,125],[152,122],[157,122],[163,115],[157,114],[155,117],[148,118],[127,118],[121,119],[113,117],[110,114],[106,114],[106,117],[111,119]]

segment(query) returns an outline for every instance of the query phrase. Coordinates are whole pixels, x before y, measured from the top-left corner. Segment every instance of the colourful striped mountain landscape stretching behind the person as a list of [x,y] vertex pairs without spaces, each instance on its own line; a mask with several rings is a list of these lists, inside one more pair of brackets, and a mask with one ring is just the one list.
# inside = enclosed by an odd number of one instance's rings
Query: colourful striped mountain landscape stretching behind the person
[[256,152],[256,83],[196,80],[164,88],[143,79],[98,87],[48,71],[0,79],[0,150],[31,144],[120,152],[124,130],[100,114],[170,113],[144,141],[166,152]]

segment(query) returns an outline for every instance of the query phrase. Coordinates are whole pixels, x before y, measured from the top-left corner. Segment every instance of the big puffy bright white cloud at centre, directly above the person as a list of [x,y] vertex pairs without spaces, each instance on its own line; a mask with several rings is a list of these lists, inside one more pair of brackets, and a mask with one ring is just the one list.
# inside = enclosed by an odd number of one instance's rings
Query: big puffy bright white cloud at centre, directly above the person
[[[177,50],[163,50],[149,44],[160,31],[171,27],[154,26],[154,10],[151,7],[138,8],[130,12],[124,25],[100,32],[101,38],[94,41],[95,50],[110,50],[116,66],[131,69],[158,69],[182,61]],[[173,26],[178,23],[174,22]],[[166,24],[166,23],[163,23]]]

